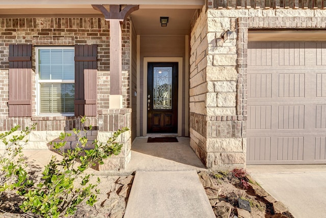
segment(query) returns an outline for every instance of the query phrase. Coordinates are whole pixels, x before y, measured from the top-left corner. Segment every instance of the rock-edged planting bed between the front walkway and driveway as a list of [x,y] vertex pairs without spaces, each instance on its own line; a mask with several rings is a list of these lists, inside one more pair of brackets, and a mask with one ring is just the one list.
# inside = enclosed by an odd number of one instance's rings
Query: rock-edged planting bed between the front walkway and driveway
[[[209,173],[199,172],[199,178],[205,188],[207,198],[213,208],[216,217],[232,217],[232,218],[250,218],[250,217],[269,217],[269,218],[293,218],[287,210],[277,200],[271,197],[262,187],[260,187],[250,176],[247,176],[247,181],[250,181],[249,190],[243,190],[239,187],[238,180],[230,175],[219,173],[221,177],[210,177]],[[253,193],[254,192],[254,193]],[[235,201],[243,197],[243,200],[252,203],[251,212],[240,207],[233,207]],[[259,198],[261,197],[261,198]],[[262,200],[264,198],[264,200]],[[229,203],[230,202],[230,203]],[[267,203],[268,202],[268,203]],[[275,213],[271,205],[275,205]],[[284,205],[283,205],[284,206]],[[270,208],[270,209],[268,209]],[[246,208],[247,209],[247,208]],[[232,214],[232,215],[231,215]],[[231,216],[230,216],[231,215]]]

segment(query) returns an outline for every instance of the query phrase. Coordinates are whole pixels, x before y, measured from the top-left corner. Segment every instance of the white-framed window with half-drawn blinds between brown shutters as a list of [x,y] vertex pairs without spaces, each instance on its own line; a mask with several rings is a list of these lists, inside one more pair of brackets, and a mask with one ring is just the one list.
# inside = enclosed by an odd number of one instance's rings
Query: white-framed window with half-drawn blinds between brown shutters
[[73,115],[75,96],[74,49],[37,49],[38,113]]

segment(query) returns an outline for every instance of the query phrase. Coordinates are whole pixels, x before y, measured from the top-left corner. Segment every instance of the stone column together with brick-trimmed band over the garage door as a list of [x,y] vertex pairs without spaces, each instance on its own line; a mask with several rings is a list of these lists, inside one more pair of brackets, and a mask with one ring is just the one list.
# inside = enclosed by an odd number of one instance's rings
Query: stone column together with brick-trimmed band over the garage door
[[[208,5],[208,10],[203,8],[194,20],[190,59],[191,147],[209,168],[243,167],[248,30],[324,29],[326,10],[231,6],[226,10],[210,9]],[[226,31],[231,31],[234,39],[225,41]]]

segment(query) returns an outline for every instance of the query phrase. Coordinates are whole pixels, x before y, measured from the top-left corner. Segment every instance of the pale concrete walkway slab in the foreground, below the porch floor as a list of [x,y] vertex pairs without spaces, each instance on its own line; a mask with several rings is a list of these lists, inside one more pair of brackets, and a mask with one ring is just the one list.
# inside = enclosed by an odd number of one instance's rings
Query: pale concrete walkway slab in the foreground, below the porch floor
[[214,218],[196,171],[136,172],[124,218]]

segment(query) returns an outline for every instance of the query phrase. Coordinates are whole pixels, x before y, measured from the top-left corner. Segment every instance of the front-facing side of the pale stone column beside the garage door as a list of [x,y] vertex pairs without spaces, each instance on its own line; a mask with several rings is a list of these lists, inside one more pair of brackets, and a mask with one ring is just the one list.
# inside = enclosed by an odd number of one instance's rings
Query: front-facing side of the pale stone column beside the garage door
[[[215,17],[207,11],[207,165],[243,167],[246,139],[242,138],[242,86],[239,85],[235,17]],[[230,31],[230,39],[224,34]]]

